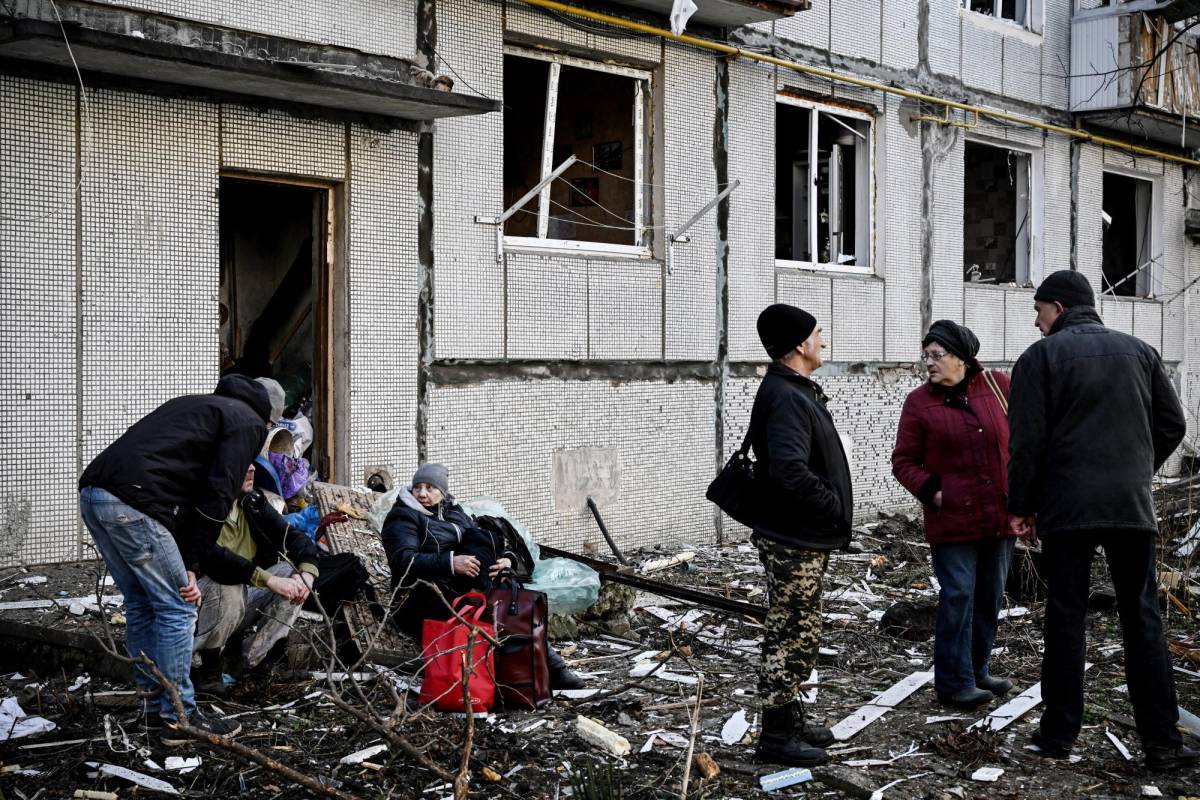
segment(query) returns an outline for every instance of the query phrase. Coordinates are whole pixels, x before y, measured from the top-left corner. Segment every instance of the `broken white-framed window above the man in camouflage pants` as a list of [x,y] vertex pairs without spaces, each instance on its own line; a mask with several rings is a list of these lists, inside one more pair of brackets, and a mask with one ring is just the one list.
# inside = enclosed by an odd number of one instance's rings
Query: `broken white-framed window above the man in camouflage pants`
[[781,97],[775,106],[775,258],[868,271],[871,118]]

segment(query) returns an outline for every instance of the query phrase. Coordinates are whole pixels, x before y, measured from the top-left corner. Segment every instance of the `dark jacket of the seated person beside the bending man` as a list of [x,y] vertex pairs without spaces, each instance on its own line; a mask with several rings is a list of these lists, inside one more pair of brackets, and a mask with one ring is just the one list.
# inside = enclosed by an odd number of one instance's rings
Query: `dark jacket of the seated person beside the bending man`
[[251,539],[254,540],[254,559],[245,559],[220,545],[200,559],[200,570],[217,583],[248,584],[256,567],[264,570],[287,560],[298,570],[313,577],[318,575],[317,561],[320,552],[311,539],[288,524],[280,512],[271,507],[262,489],[254,489],[240,501],[241,512],[246,515]]

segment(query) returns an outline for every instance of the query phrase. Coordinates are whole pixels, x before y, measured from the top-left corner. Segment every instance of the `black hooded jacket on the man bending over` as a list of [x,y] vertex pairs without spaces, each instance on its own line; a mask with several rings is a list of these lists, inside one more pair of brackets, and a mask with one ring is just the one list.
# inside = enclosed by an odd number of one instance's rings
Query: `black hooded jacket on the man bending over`
[[79,488],[110,492],[175,536],[184,565],[199,571],[266,439],[271,401],[245,375],[211,395],[169,399],[134,422],[84,470]]

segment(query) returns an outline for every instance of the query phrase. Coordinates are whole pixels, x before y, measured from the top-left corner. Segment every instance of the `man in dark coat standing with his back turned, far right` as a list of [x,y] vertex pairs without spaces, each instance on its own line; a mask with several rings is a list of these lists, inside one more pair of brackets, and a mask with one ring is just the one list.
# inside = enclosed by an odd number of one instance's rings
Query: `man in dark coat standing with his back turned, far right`
[[1180,399],[1152,347],[1108,329],[1079,272],[1033,295],[1034,343],[1013,369],[1008,510],[1013,533],[1044,541],[1045,711],[1033,741],[1064,758],[1084,716],[1084,633],[1096,547],[1117,594],[1126,679],[1151,769],[1196,763],[1176,727],[1170,655],[1158,613],[1151,480],[1186,433]]

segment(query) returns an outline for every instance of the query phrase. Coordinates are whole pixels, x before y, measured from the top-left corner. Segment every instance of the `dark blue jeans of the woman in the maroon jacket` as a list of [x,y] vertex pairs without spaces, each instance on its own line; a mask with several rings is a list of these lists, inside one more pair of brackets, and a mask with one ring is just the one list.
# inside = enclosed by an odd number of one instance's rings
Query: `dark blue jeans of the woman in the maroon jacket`
[[938,694],[974,688],[988,676],[1015,543],[1004,536],[930,547],[934,573],[942,585],[934,628],[934,687]]

